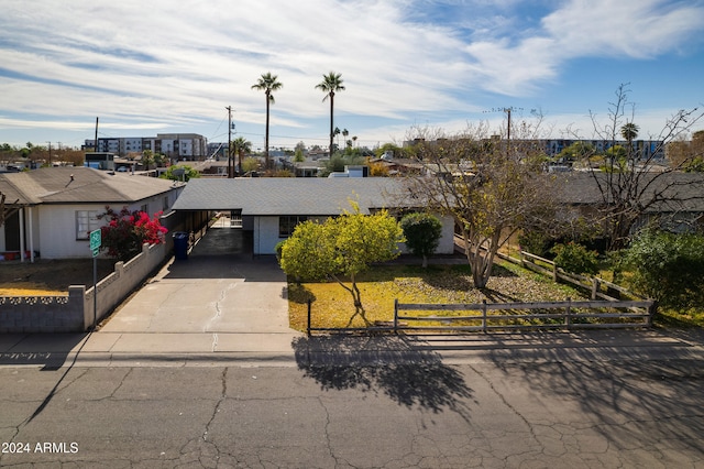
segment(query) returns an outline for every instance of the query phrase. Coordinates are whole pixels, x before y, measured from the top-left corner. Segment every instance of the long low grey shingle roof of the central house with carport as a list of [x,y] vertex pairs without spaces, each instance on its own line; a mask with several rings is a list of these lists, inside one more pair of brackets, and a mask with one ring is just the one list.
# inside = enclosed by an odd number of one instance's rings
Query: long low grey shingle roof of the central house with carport
[[242,177],[190,179],[174,204],[175,210],[232,210],[242,215],[339,215],[350,208],[360,211],[419,205],[409,203],[408,186],[388,177]]

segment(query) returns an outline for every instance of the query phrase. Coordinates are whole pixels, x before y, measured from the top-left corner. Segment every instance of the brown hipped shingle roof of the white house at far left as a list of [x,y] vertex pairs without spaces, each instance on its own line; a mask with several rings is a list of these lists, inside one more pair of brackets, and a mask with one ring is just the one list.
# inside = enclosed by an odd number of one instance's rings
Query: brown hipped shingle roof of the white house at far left
[[168,193],[179,183],[89,167],[42,167],[0,174],[6,204],[124,204]]

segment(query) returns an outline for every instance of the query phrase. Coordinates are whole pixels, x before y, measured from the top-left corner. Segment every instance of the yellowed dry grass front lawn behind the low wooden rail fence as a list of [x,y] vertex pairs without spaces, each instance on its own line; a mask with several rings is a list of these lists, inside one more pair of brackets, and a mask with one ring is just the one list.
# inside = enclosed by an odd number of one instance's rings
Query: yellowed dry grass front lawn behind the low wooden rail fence
[[[365,273],[358,281],[358,286],[370,323],[393,320],[396,298],[402,303],[436,304],[585,298],[573,288],[510,264],[496,265],[487,288],[481,291],[473,287],[466,265],[431,265],[427,270],[405,265],[381,266]],[[311,327],[364,327],[359,316],[350,323],[354,315],[352,296],[338,283],[289,283],[288,297],[290,327],[297,330],[306,330],[309,298],[314,301]]]

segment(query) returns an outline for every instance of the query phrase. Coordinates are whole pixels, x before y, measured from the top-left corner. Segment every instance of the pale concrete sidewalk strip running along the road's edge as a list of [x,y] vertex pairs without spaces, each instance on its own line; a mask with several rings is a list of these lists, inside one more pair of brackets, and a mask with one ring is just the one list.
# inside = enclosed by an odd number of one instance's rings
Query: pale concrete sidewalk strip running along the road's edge
[[[319,336],[299,334],[6,335],[0,366],[309,367],[443,361],[516,363],[627,360],[704,361],[701,332],[660,330],[465,336]],[[693,340],[696,339],[696,340]]]

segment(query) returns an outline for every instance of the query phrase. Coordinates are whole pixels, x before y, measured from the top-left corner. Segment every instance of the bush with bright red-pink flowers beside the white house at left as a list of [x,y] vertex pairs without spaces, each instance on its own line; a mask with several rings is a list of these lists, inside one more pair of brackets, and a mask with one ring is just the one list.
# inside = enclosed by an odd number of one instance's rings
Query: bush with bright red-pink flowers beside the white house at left
[[158,220],[161,211],[153,218],[141,210],[130,211],[127,207],[114,211],[106,207],[106,212],[98,218],[108,218],[108,225],[100,228],[102,237],[101,250],[120,261],[129,261],[142,252],[142,244],[161,244],[168,231]]

